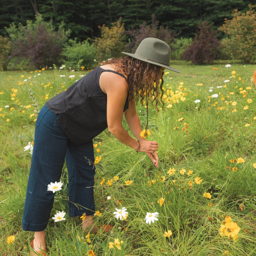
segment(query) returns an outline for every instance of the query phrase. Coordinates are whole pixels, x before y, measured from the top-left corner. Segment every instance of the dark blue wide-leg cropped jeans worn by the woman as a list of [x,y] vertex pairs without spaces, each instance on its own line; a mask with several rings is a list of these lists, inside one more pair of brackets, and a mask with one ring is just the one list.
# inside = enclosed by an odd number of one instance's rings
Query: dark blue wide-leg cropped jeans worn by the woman
[[46,228],[55,195],[47,191],[47,186],[51,182],[59,182],[65,158],[69,174],[69,216],[82,216],[84,212],[93,215],[95,212],[93,142],[81,145],[71,143],[56,121],[60,115],[43,106],[36,121],[22,219],[24,230],[42,231]]

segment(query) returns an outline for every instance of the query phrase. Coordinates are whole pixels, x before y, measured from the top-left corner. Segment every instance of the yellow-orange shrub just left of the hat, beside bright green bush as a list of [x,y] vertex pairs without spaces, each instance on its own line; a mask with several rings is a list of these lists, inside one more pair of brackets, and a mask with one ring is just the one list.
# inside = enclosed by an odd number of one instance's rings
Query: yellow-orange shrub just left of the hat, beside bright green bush
[[103,25],[99,26],[101,37],[95,39],[97,49],[97,60],[103,61],[112,57],[120,57],[121,52],[126,46],[126,36],[124,34],[124,24],[121,24],[121,19],[111,23],[111,28]]

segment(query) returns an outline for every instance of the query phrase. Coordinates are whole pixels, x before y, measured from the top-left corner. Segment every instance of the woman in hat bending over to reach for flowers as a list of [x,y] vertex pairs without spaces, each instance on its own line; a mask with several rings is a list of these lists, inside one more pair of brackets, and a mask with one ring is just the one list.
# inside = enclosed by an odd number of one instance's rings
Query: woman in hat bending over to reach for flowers
[[[38,115],[22,225],[24,230],[35,231],[31,247],[42,255],[46,255],[44,230],[54,202],[54,193],[47,191],[47,185],[60,180],[65,158],[69,216],[85,212],[83,229],[94,225],[95,169],[90,162],[94,163],[95,136],[108,127],[120,142],[144,152],[158,167],[159,145],[140,137],[135,102],[138,98],[148,101],[153,91],[158,109],[159,96],[163,95],[163,81],[159,86],[163,70],[180,71],[169,66],[170,47],[156,38],[144,39],[135,54],[123,54],[127,56],[105,62],[47,101]],[[136,139],[123,128],[123,114]]]

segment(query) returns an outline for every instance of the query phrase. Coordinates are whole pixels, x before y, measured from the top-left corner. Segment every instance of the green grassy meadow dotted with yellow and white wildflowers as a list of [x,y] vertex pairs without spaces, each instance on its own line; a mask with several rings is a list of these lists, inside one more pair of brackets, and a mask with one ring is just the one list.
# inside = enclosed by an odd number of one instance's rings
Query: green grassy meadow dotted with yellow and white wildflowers
[[[148,139],[160,145],[159,168],[107,130],[96,137],[95,220],[114,228],[88,236],[81,219],[68,216],[64,166],[51,217],[64,211],[66,220],[50,217],[48,255],[256,254],[255,66],[171,66],[181,73],[165,70],[164,110],[148,109]],[[84,74],[67,67],[0,74],[1,255],[29,255],[33,239],[21,221],[31,161],[24,147],[34,140],[34,110]],[[145,106],[137,104],[137,112],[145,129]],[[113,212],[122,207],[128,215],[116,219]],[[158,220],[146,223],[156,212]]]

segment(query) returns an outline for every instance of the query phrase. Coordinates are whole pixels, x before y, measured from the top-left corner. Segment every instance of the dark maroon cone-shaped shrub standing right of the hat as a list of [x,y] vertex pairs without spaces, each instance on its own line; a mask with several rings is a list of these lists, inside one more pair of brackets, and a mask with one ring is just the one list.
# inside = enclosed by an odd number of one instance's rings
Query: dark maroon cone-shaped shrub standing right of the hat
[[199,31],[197,31],[192,44],[183,52],[182,59],[191,60],[192,63],[197,64],[209,64],[216,59],[220,41],[216,37],[217,31],[211,28],[212,25],[208,26],[206,21],[199,24]]

